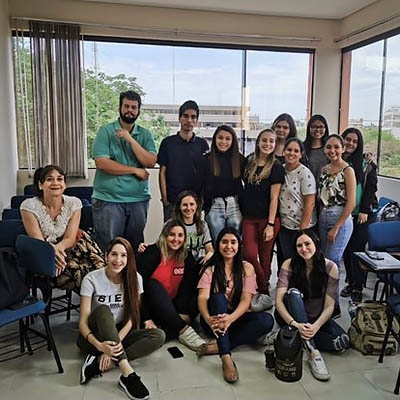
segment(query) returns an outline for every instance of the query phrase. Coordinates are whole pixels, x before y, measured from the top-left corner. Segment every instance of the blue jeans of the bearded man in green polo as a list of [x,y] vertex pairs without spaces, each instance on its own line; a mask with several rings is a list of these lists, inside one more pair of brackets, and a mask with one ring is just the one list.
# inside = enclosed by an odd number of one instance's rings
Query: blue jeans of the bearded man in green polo
[[96,240],[105,252],[110,240],[122,236],[129,240],[137,252],[139,243],[144,242],[143,231],[147,221],[149,200],[135,203],[111,203],[92,199],[93,225]]

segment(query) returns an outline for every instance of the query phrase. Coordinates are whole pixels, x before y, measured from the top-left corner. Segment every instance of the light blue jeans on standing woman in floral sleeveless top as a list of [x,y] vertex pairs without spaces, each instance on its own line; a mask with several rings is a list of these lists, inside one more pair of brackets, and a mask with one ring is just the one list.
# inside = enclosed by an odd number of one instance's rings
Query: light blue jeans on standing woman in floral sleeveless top
[[323,207],[319,214],[319,238],[321,240],[322,251],[325,258],[337,265],[339,273],[344,250],[353,232],[352,216],[349,215],[345,223],[339,228],[333,243],[328,242],[327,235],[339,219],[342,211],[342,206]]

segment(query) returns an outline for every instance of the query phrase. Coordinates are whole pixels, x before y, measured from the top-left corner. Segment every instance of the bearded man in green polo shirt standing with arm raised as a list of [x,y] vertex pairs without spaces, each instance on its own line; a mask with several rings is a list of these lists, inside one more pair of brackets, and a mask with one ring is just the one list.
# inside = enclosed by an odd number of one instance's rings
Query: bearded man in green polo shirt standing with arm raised
[[119,98],[118,120],[100,127],[93,144],[96,176],[93,183],[93,225],[105,251],[116,236],[128,239],[134,250],[144,241],[150,201],[149,173],[157,156],[152,134],[135,124],[142,104],[132,90]]

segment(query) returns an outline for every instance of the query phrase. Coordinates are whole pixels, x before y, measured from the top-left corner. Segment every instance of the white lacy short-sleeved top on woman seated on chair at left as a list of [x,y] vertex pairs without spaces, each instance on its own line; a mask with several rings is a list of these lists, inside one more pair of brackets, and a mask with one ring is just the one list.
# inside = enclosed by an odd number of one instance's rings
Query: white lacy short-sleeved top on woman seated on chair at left
[[20,210],[29,211],[36,217],[43,237],[49,243],[57,243],[62,239],[73,213],[81,208],[82,202],[80,199],[63,195],[63,206],[60,215],[53,220],[39,197],[26,199],[20,206]]

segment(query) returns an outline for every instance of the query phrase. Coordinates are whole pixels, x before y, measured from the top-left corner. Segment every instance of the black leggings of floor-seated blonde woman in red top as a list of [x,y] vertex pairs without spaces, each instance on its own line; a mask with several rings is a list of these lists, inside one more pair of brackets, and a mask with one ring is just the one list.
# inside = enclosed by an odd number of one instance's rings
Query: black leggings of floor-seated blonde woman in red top
[[[197,311],[197,293],[193,293],[193,298],[186,305],[186,310],[180,310],[177,304],[181,294],[176,295],[174,299],[168,296],[164,286],[156,279],[149,279],[145,286],[146,305],[149,308],[150,316],[153,321],[161,326],[165,331],[168,339],[178,337],[179,332],[187,325],[187,323],[179,316],[179,314],[188,314],[190,319],[194,319],[198,314]],[[189,312],[187,311],[189,309]]]

